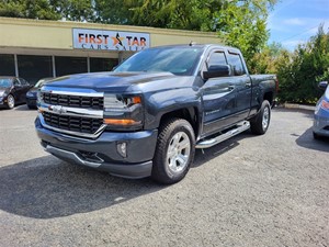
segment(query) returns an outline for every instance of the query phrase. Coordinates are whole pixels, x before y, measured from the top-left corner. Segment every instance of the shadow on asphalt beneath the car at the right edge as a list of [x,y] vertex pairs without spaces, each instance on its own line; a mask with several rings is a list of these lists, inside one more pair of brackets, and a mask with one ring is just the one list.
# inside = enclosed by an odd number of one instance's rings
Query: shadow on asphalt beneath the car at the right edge
[[315,139],[313,137],[313,130],[309,127],[297,139],[296,144],[300,147],[305,147],[308,149],[327,151],[329,153],[329,138],[321,137],[320,139]]

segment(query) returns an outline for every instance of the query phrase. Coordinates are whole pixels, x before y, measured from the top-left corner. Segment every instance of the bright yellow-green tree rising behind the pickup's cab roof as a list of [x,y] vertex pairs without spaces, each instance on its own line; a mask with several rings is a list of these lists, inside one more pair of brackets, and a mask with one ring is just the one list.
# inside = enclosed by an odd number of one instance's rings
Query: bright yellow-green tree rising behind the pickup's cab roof
[[275,2],[275,0],[231,0],[226,1],[223,9],[216,13],[219,37],[226,44],[240,48],[247,64],[264,47],[269,38],[268,9]]

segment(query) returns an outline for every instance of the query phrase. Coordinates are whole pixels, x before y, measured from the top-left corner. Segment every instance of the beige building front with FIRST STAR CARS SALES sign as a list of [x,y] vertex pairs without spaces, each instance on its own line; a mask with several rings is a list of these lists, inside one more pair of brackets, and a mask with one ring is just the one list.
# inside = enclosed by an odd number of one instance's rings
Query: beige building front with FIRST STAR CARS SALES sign
[[215,33],[0,18],[0,76],[45,77],[111,71],[144,48],[220,43]]

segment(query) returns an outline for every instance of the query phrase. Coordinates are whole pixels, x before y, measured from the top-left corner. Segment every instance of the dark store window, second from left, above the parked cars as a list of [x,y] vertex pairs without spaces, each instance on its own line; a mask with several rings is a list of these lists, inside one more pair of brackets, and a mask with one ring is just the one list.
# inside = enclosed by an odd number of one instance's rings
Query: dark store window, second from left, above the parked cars
[[50,56],[18,55],[19,75],[35,85],[39,79],[53,77]]

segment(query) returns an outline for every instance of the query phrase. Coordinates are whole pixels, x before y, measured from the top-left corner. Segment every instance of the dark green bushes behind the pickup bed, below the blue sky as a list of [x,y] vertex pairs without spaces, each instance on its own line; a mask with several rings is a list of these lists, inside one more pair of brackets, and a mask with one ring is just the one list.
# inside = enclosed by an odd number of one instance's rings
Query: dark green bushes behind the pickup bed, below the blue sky
[[315,103],[321,94],[318,82],[329,80],[329,32],[320,25],[307,44],[292,54],[285,52],[276,68],[282,102]]

